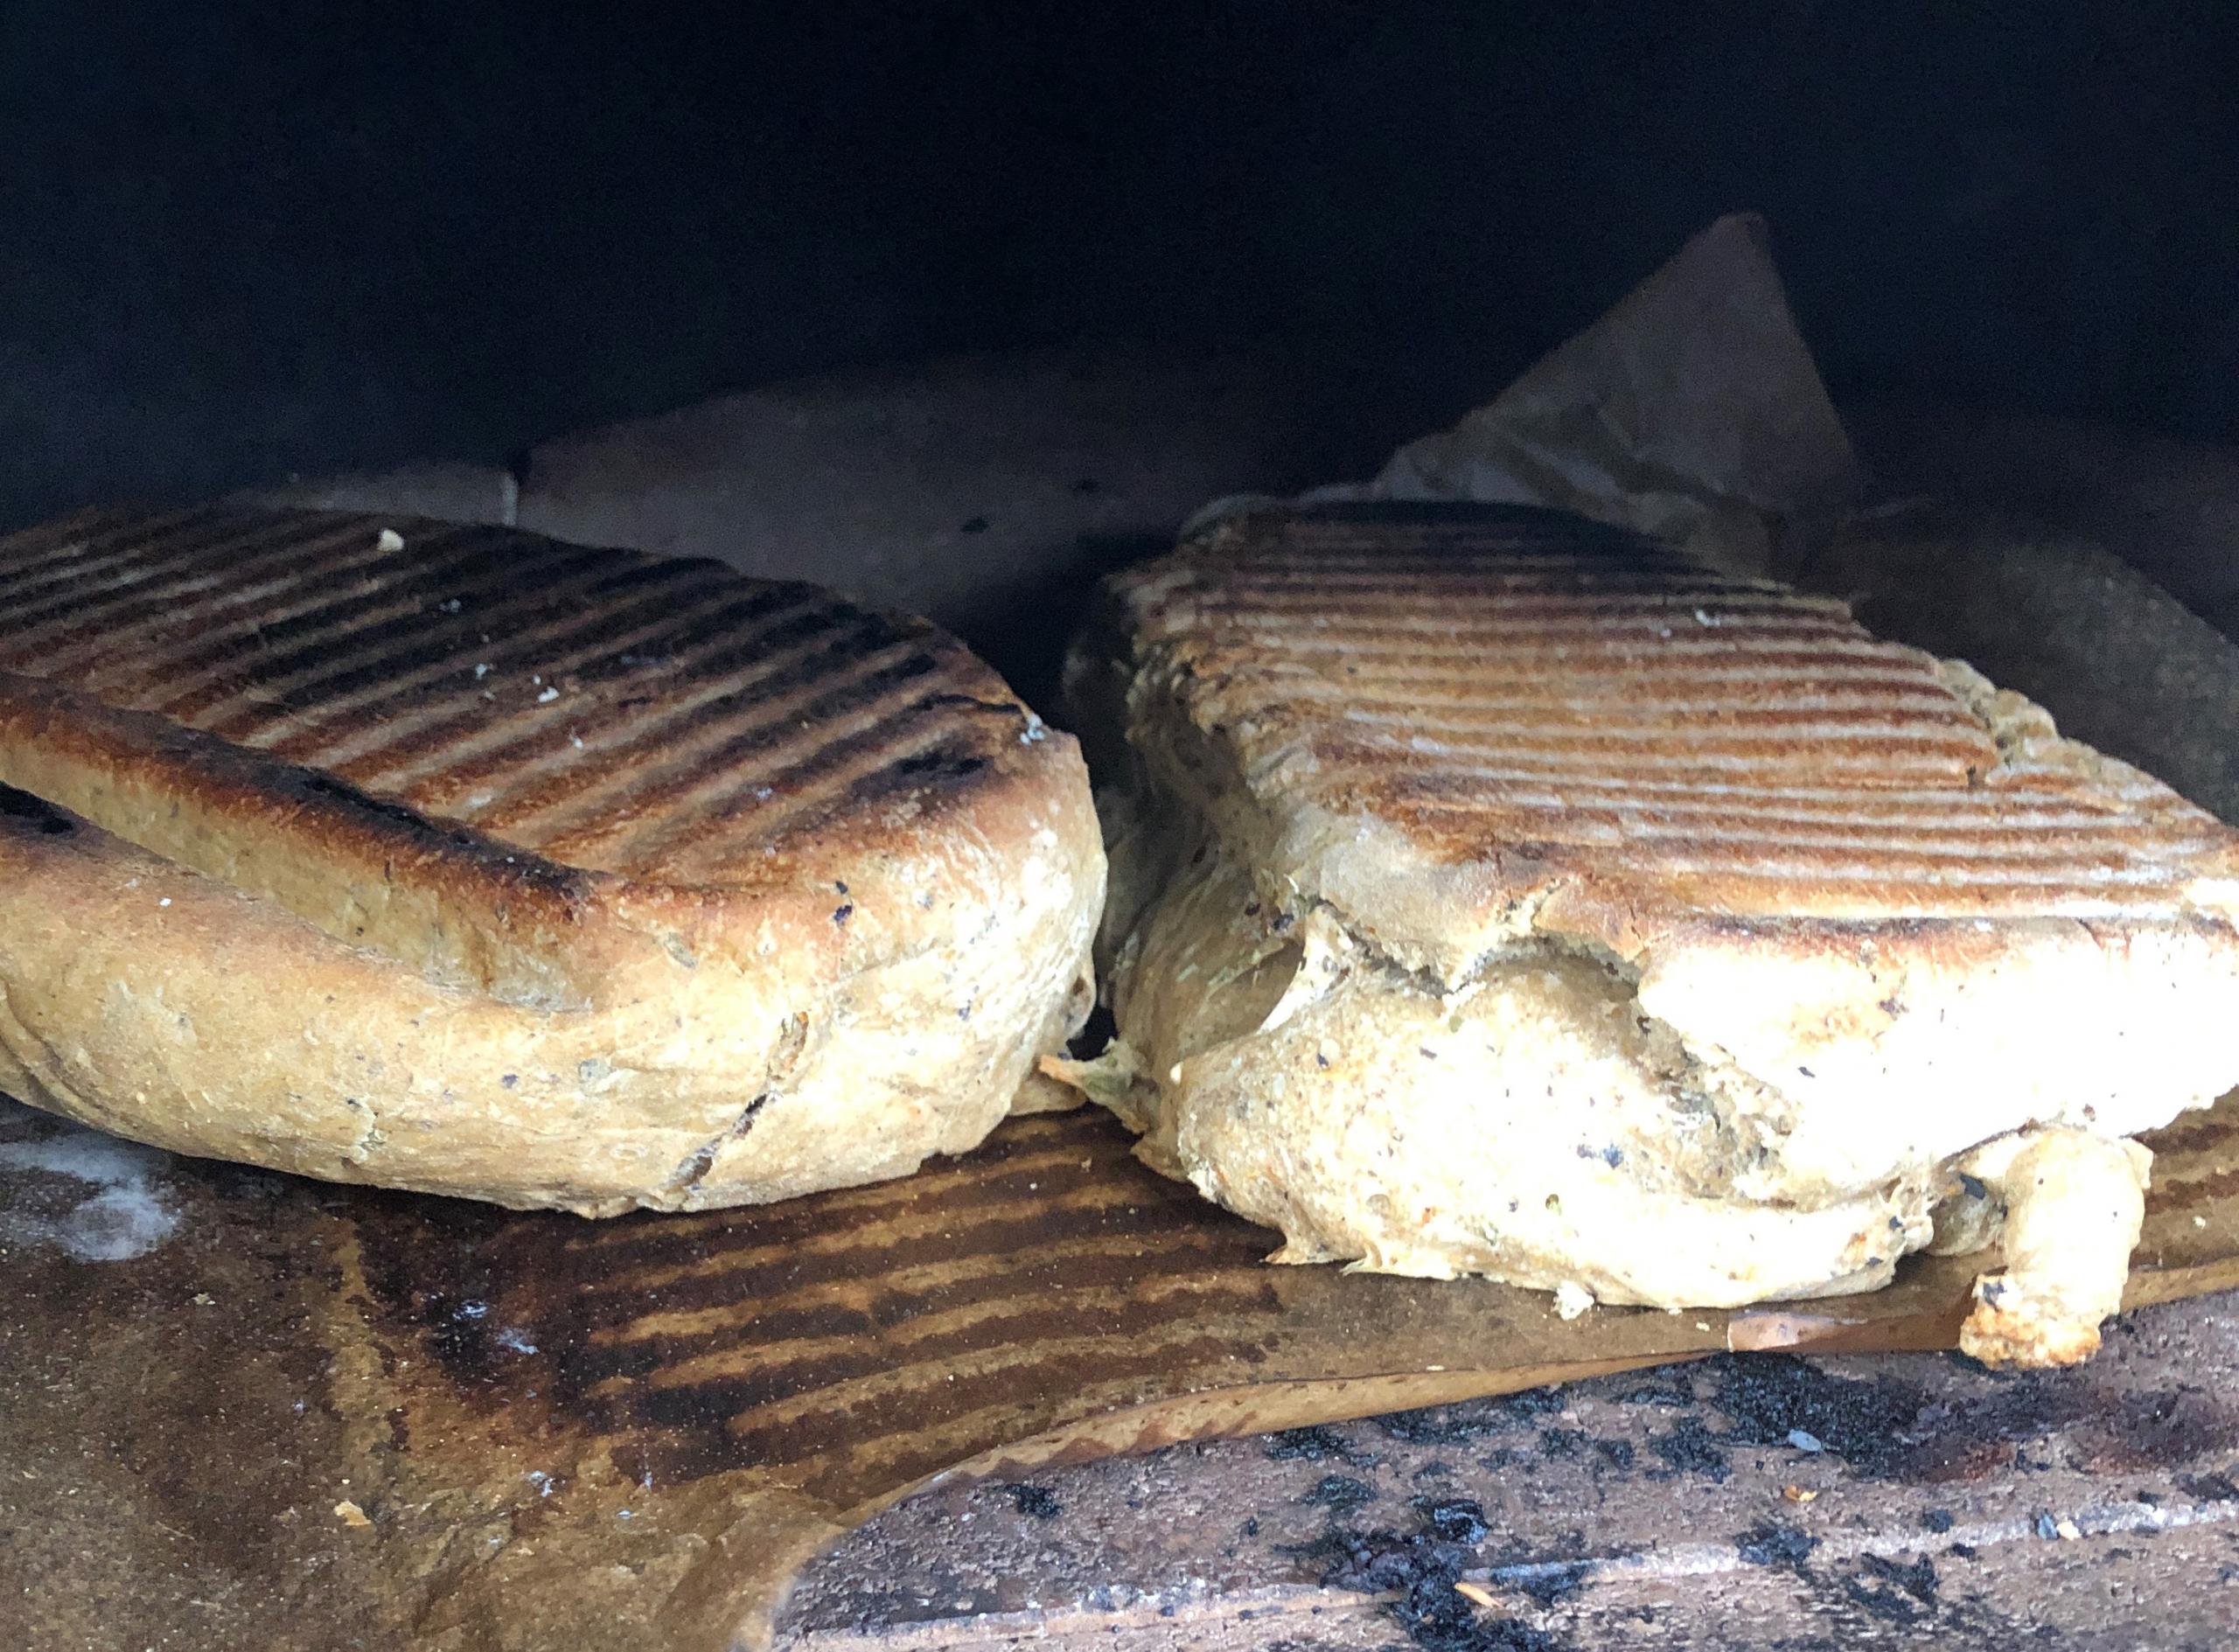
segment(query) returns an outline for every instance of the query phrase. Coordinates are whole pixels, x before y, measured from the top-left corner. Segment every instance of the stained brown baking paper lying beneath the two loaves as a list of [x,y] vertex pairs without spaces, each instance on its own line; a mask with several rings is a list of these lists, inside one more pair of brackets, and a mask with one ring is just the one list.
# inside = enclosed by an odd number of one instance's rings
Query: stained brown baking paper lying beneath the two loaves
[[[2239,1092],[2154,1148],[2132,1303],[2239,1285]],[[1946,1348],[1979,1265],[1565,1323],[1267,1249],[1095,1110],[884,1186],[582,1222],[0,1101],[0,1598],[34,1648],[716,1652],[947,1475],[1724,1348]]]

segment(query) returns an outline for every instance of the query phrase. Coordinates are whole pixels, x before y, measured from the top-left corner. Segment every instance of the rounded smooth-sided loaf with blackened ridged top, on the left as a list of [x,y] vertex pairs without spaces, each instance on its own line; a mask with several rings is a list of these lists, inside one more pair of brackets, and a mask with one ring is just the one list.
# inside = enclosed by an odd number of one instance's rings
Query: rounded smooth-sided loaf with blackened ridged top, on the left
[[0,537],[0,1090],[605,1215],[974,1146],[1086,1014],[1086,772],[954,638],[499,528]]

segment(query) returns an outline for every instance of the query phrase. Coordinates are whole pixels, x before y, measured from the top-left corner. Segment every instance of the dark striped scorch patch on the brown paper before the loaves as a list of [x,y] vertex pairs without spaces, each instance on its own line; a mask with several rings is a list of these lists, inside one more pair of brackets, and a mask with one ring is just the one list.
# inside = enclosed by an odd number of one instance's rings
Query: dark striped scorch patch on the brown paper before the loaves
[[455,1392],[510,1408],[533,1388],[528,1410],[627,1439],[663,1480],[864,1455],[931,1471],[990,1410],[1249,1365],[1274,1325],[1270,1236],[1137,1166],[1111,1121],[1014,1119],[929,1175],[945,1189],[596,1231],[363,1195],[358,1231],[376,1318]]

